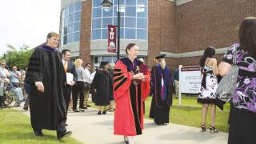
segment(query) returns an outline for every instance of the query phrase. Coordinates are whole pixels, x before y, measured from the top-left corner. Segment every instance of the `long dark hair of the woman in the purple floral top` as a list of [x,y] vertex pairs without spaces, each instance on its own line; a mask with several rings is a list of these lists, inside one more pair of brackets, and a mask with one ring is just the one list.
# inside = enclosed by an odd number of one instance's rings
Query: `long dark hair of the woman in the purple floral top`
[[242,21],[239,28],[239,41],[243,50],[256,55],[256,18],[249,17]]

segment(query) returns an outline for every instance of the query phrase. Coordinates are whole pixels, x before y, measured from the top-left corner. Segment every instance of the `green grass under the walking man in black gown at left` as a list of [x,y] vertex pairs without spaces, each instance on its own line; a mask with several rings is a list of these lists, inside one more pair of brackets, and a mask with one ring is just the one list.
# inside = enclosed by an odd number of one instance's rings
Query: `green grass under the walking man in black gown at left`
[[18,110],[0,109],[0,143],[1,144],[54,144],[54,143],[82,143],[74,138],[58,141],[56,131],[43,130],[44,136],[34,136],[30,126],[30,118]]

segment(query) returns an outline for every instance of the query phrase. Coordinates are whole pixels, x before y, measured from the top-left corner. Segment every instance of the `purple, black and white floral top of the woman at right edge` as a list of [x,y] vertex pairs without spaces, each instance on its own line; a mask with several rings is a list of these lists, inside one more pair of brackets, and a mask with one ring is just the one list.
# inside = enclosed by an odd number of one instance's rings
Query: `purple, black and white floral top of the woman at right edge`
[[234,49],[237,48],[238,88],[232,96],[234,107],[256,113],[256,58],[242,50],[239,44],[231,46],[226,52],[223,62],[233,64]]

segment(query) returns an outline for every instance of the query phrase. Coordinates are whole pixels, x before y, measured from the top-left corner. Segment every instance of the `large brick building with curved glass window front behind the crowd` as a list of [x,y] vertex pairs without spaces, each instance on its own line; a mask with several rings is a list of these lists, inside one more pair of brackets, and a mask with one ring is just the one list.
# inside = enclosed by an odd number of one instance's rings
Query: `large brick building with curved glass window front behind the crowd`
[[[102,0],[62,0],[61,49],[71,50],[98,66],[114,63],[106,52],[106,26],[117,24],[117,2],[102,8]],[[227,48],[238,41],[243,18],[256,16],[255,0],[120,0],[121,56],[127,43],[140,47],[140,56],[154,65],[154,55],[166,54],[169,66],[197,65],[206,46],[214,46],[218,61]]]

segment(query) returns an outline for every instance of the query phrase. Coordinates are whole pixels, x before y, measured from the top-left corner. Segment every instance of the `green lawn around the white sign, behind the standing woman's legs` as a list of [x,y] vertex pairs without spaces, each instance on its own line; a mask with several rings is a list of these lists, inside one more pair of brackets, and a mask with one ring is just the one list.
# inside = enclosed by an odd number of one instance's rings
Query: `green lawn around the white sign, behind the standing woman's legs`
[[[149,118],[151,97],[146,99],[146,118]],[[217,107],[216,128],[220,131],[228,131],[228,117],[230,104],[224,106],[224,110]],[[178,105],[178,98],[174,98],[173,106],[170,108],[170,122],[186,126],[201,126],[201,104],[196,97],[182,97],[182,105]],[[208,110],[206,126],[210,126],[210,110]]]

